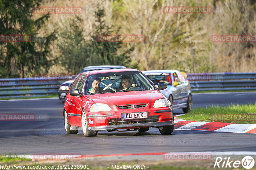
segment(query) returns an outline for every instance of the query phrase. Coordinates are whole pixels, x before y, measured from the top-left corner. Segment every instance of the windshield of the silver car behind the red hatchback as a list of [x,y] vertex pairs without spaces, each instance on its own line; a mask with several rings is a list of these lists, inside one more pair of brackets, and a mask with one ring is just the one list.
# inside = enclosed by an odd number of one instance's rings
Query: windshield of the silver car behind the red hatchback
[[146,74],[148,78],[157,85],[158,83],[166,83],[171,85],[171,74],[170,73],[157,73],[157,74]]

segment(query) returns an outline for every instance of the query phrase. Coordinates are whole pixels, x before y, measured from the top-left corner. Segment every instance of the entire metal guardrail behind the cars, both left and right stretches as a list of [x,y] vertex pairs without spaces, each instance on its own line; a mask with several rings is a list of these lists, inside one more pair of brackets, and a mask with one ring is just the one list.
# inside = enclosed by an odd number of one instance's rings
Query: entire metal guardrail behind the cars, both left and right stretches
[[[48,96],[72,76],[0,79],[0,98]],[[191,91],[256,90],[256,73],[187,74]]]

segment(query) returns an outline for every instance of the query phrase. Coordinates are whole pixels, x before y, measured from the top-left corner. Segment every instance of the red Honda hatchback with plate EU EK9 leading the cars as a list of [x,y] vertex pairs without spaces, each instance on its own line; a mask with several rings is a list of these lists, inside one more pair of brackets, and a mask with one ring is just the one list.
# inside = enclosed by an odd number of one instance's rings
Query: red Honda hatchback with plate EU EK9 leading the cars
[[[80,74],[65,99],[63,118],[67,134],[82,130],[145,132],[157,127],[171,134],[174,118],[170,101],[150,79],[136,69],[95,70]],[[124,130],[121,130],[124,129]]]

